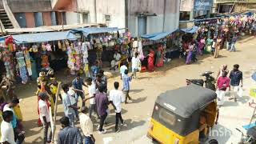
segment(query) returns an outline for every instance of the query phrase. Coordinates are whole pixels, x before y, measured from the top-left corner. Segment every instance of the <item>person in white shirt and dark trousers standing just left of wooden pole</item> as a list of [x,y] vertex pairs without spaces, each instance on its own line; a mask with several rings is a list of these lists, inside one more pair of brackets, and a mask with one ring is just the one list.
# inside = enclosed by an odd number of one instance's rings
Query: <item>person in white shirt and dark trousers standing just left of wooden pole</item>
[[48,129],[50,127],[50,111],[47,106],[47,99],[48,94],[46,92],[40,92],[38,94],[40,97],[40,100],[38,101],[38,108],[39,108],[39,117],[43,125],[43,141],[44,143],[50,142],[51,138],[51,130],[50,130],[50,136],[48,137]]

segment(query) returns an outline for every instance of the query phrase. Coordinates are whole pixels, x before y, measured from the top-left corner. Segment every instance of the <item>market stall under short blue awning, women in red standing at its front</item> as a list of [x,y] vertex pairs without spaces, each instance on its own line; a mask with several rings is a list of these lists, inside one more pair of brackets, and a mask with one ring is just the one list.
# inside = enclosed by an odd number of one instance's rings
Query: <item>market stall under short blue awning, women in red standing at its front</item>
[[178,30],[174,30],[172,32],[142,35],[142,40],[138,42],[142,42],[142,46],[138,46],[142,67],[147,66],[147,69],[152,71],[154,69],[150,69],[149,66],[152,60],[153,64],[151,65],[162,67],[164,62],[169,62],[171,58],[178,57],[178,34]]

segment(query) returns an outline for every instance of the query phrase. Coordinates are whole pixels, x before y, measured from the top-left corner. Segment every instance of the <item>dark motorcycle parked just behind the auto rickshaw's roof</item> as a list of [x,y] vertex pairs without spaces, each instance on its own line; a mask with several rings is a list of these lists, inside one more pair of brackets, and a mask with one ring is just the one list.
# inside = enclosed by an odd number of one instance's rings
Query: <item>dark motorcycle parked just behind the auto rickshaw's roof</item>
[[206,71],[205,73],[201,74],[201,76],[205,77],[205,79],[186,79],[186,84],[190,85],[191,83],[194,83],[198,86],[204,86],[205,84],[206,88],[215,91],[215,78],[211,74],[214,74],[214,72]]

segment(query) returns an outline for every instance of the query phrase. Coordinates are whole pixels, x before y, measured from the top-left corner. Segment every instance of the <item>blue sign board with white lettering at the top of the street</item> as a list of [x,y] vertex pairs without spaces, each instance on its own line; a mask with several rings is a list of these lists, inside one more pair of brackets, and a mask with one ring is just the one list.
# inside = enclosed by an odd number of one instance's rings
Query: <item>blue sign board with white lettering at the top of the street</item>
[[194,10],[211,10],[213,0],[194,0]]

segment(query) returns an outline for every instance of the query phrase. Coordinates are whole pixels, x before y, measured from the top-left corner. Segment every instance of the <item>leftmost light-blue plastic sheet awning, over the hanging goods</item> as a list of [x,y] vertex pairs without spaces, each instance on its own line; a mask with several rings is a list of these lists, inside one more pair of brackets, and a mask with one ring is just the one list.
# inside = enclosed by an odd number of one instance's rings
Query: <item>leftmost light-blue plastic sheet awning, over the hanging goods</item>
[[75,40],[76,36],[69,31],[47,32],[36,34],[19,34],[12,35],[16,43],[32,43],[32,42],[50,42],[63,39]]

